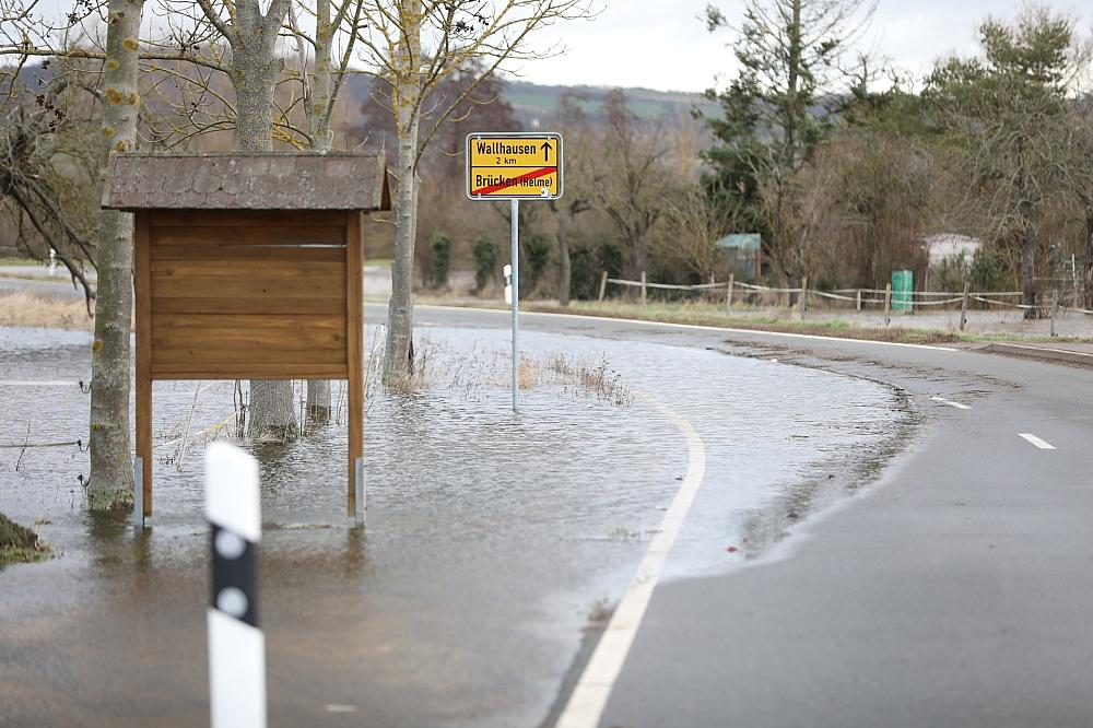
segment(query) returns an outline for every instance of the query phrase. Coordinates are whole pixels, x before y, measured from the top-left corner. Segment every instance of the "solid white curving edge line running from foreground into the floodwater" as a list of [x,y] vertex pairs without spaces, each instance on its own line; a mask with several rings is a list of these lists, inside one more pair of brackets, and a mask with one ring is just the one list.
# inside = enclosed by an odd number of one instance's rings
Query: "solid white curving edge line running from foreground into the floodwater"
[[644,395],[638,396],[674,422],[686,437],[686,474],[671,505],[668,506],[663,520],[660,521],[659,530],[645,552],[642,565],[638,566],[637,573],[626,588],[626,594],[623,595],[611,621],[603,630],[591,659],[588,660],[580,679],[569,694],[555,728],[596,728],[599,725],[611,689],[619,678],[623,662],[626,661],[626,655],[649,606],[653,589],[657,586],[660,572],[706,472],[706,448],[691,423],[659,401]]

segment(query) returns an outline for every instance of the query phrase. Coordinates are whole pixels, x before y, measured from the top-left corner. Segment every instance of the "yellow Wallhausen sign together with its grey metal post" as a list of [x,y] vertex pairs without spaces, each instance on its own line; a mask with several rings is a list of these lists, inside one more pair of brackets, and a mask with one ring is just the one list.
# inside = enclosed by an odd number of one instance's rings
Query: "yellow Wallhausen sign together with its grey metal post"
[[554,132],[470,133],[466,157],[469,199],[510,201],[513,253],[512,266],[505,267],[505,302],[513,305],[513,411],[517,412],[520,404],[520,200],[561,199],[562,136]]

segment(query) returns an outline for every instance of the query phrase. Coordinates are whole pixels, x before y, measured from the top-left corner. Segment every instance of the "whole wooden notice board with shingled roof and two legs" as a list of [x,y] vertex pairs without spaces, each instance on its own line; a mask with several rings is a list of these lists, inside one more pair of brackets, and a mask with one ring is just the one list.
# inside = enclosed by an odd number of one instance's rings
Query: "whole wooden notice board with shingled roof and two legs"
[[390,209],[383,156],[120,154],[108,180],[103,207],[134,213],[138,516],[153,380],[307,378],[349,381],[362,521],[364,213]]

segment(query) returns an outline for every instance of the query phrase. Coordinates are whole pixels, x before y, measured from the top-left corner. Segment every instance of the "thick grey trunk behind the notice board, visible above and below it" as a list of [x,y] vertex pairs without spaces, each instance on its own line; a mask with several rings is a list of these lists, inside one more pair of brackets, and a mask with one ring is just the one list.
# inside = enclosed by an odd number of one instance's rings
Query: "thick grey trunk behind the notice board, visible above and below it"
[[[273,55],[277,30],[257,2],[238,3],[236,43],[232,46],[232,81],[237,120],[235,148],[240,152],[273,150],[273,93],[284,61]],[[283,19],[281,19],[283,20]],[[269,23],[272,26],[272,23]],[[280,28],[280,22],[275,28]],[[247,436],[256,442],[285,442],[299,434],[292,381],[251,380]]]

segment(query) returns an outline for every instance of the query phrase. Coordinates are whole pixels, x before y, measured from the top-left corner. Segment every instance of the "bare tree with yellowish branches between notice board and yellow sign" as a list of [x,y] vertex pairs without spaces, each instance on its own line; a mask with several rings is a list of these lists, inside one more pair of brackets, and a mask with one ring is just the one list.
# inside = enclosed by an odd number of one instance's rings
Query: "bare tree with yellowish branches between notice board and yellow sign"
[[[412,366],[413,253],[422,154],[440,125],[482,78],[506,61],[541,54],[529,36],[561,20],[587,16],[589,0],[367,0],[359,32],[365,59],[390,92],[397,154],[395,260],[388,305],[384,380],[398,381]],[[431,90],[459,69],[482,61],[461,97],[430,106]]]

